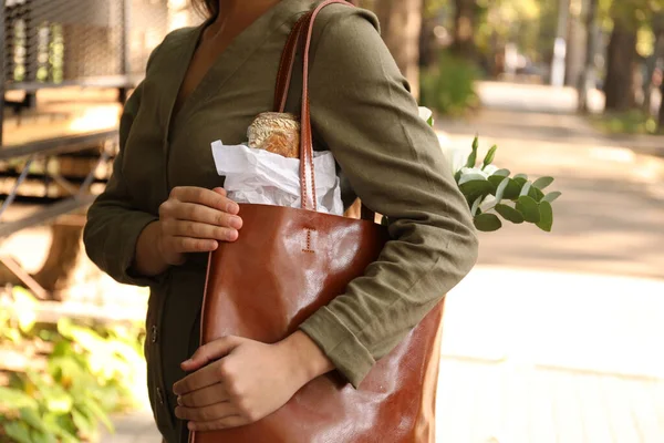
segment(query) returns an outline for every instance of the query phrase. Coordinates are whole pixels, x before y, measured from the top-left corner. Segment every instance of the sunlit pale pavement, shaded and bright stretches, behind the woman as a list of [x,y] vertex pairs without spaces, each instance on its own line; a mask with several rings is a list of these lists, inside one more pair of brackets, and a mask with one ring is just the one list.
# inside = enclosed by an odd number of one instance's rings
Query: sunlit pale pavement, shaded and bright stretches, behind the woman
[[[571,90],[481,83],[487,106],[438,122],[447,150],[499,145],[513,173],[552,175],[552,234],[481,235],[447,298],[442,443],[664,442],[664,152],[606,137],[569,113]],[[600,97],[594,96],[595,104]],[[158,443],[149,412],[104,442]]]

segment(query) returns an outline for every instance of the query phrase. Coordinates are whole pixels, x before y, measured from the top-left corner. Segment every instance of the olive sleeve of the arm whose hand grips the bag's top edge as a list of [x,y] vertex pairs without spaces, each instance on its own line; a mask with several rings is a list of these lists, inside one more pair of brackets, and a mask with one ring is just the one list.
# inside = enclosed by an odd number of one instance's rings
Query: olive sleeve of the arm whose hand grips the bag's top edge
[[153,286],[158,278],[134,275],[131,268],[135,258],[138,236],[147,225],[156,222],[158,217],[133,205],[129,189],[122,174],[123,152],[141,106],[142,91],[143,83],[136,87],[125,104],[120,122],[120,152],[113,163],[113,174],[105,190],[87,210],[83,240],[92,261],[115,280],[127,285]]

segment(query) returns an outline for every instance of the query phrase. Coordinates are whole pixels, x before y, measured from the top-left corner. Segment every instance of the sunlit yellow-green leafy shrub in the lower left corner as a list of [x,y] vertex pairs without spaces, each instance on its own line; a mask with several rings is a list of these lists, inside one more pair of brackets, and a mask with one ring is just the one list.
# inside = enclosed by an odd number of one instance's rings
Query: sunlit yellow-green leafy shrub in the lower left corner
[[0,385],[0,442],[94,441],[98,425],[113,429],[110,412],[136,405],[143,383],[144,328],[137,326],[35,324],[37,301],[13,290],[13,308],[0,310],[0,348],[45,358],[40,370],[9,373]]

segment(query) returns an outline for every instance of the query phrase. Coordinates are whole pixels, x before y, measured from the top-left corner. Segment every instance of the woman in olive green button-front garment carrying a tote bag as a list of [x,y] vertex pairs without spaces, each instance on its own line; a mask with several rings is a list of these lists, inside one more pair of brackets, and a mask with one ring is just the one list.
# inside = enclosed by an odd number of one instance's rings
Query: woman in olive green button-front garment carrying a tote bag
[[[418,117],[373,14],[345,6],[317,20],[310,73],[317,148],[339,163],[346,204],[390,217],[393,241],[366,276],[279,343],[228,337],[198,349],[207,253],[241,234],[210,142],[246,140],[272,106],[286,39],[320,0],[197,0],[206,23],[169,34],[126,104],[121,152],[90,208],[90,257],[151,287],[146,357],[168,442],[188,429],[255,422],[338,370],[357,387],[473,267],[477,239],[434,132]],[[290,111],[298,107],[294,75]]]

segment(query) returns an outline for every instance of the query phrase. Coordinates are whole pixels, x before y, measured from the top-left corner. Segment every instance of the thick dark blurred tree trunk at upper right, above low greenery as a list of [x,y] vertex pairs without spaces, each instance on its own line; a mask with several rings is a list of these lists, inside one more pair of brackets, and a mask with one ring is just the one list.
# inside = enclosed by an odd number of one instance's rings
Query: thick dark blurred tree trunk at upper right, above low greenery
[[606,111],[627,111],[634,106],[634,65],[636,29],[616,20],[606,58]]

